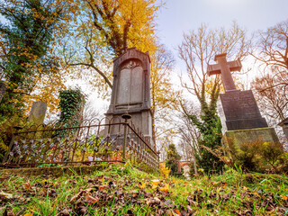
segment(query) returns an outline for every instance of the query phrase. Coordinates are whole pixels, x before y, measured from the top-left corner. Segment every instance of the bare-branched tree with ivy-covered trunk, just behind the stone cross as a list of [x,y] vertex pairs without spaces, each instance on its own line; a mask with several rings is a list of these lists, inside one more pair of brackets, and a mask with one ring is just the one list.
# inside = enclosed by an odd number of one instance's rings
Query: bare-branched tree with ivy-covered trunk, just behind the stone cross
[[[184,88],[195,95],[200,103],[200,118],[183,110],[187,118],[193,121],[202,134],[198,144],[217,148],[220,145],[221,125],[216,112],[216,103],[220,94],[220,76],[209,77],[206,66],[216,54],[227,53],[228,58],[243,59],[247,56],[250,40],[247,33],[237,23],[233,23],[229,30],[224,28],[209,29],[207,25],[197,31],[184,33],[182,44],[178,46],[179,57],[184,60],[189,81],[183,81]],[[187,80],[187,79],[185,79]],[[198,156],[198,164],[205,171],[220,169],[220,161],[205,148],[195,152]]]

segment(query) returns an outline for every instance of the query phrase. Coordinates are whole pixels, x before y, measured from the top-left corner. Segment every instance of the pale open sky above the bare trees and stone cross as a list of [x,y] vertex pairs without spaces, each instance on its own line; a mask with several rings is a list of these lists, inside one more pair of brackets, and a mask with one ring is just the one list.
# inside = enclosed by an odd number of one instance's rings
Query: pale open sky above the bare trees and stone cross
[[184,64],[175,48],[183,33],[196,30],[201,23],[211,28],[229,28],[233,21],[249,33],[265,31],[288,19],[288,0],[165,0],[157,18],[157,35],[176,58],[175,69],[184,72]]

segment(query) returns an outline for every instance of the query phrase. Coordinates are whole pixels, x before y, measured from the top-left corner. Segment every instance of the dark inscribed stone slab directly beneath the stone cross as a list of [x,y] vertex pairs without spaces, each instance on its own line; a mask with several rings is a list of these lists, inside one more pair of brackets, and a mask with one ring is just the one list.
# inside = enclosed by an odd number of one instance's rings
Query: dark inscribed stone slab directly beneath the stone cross
[[220,94],[218,109],[223,126],[223,133],[225,133],[226,130],[268,127],[266,120],[262,118],[259,112],[251,90],[235,90]]

